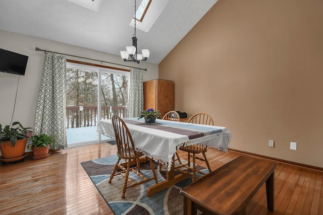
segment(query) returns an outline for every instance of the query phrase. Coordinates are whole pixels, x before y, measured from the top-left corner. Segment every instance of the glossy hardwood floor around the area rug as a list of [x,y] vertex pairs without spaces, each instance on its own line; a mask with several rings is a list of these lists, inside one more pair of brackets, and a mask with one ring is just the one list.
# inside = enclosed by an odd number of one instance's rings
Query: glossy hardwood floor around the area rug
[[[0,164],[0,214],[113,214],[80,163],[114,154],[116,146],[97,144],[51,152],[42,160],[27,156],[15,164]],[[186,158],[183,152],[179,155]],[[212,169],[238,156],[207,152]],[[247,205],[247,214],[323,214],[323,172],[277,165],[275,211],[267,211],[263,185]]]

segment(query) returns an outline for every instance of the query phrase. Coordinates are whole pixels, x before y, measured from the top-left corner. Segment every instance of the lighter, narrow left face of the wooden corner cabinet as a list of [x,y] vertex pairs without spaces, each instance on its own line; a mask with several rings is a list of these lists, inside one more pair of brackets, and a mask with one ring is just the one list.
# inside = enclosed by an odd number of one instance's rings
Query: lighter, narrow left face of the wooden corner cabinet
[[156,109],[156,80],[143,83],[143,109]]

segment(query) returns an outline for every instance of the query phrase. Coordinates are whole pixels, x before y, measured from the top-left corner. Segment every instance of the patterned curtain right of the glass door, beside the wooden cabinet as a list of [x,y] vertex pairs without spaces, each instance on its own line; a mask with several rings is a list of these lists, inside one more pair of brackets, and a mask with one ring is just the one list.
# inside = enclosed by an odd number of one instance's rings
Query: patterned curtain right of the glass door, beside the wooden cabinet
[[128,117],[139,117],[143,110],[143,82],[139,68],[130,69],[130,89],[128,97]]

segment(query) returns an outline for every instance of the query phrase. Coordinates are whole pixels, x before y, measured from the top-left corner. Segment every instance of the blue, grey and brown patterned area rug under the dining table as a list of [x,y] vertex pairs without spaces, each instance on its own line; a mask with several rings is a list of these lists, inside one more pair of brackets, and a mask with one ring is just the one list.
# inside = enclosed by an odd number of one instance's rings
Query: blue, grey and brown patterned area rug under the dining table
[[[147,197],[146,189],[155,184],[154,180],[151,180],[136,187],[128,188],[125,194],[126,197],[121,198],[124,178],[118,175],[113,178],[111,184],[108,183],[110,174],[112,173],[117,160],[118,157],[115,155],[81,163],[97,190],[116,215],[183,214],[183,196],[179,191],[192,183],[191,178],[160,191],[151,197]],[[182,162],[186,161],[183,160]],[[156,162],[153,163],[158,182],[164,181],[166,178],[166,165],[163,165],[162,171],[159,172],[158,164]],[[146,177],[152,177],[149,162],[142,163],[140,169],[141,173]],[[205,172],[208,171],[200,166],[198,166],[198,169]],[[140,180],[137,175],[132,173],[130,173],[129,178],[131,178],[132,181]]]

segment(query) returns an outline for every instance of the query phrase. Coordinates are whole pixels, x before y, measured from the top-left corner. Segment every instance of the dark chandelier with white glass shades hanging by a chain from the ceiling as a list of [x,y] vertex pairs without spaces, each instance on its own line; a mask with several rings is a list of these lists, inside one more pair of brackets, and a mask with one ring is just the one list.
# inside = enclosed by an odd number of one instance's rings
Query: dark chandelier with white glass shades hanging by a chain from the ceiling
[[[137,37],[136,37],[136,0],[135,0],[135,34],[132,37],[132,46],[127,46],[126,51],[120,51],[123,61],[133,61],[140,63],[140,61],[147,60],[149,57],[149,50],[142,49],[142,54],[137,54]],[[130,59],[128,59],[130,56]]]

